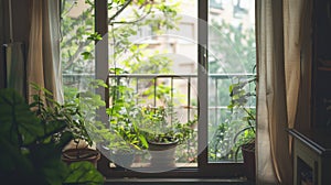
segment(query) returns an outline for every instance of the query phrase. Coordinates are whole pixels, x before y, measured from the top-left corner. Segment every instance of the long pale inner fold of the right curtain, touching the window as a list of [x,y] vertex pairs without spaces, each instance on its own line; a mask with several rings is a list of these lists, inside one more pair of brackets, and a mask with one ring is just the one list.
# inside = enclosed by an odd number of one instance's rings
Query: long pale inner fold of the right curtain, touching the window
[[286,133],[282,2],[257,1],[257,183],[275,184],[290,164]]

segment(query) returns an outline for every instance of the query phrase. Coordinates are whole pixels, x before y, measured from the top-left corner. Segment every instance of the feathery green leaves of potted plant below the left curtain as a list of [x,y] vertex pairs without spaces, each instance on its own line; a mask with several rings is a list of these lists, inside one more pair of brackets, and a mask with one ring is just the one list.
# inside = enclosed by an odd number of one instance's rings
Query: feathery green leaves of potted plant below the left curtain
[[[102,83],[95,80],[94,86],[99,86]],[[96,120],[96,110],[100,106],[105,106],[99,95],[93,91],[81,91],[71,88],[70,95],[65,96],[65,102],[60,104],[53,99],[53,95],[47,89],[32,84],[38,94],[33,96],[31,107],[35,113],[41,118],[43,123],[54,124],[62,121],[66,124],[66,131],[73,134],[73,139],[78,146],[79,142],[87,142],[93,144],[90,133],[94,133],[93,128],[102,124]],[[95,129],[94,129],[95,130]]]

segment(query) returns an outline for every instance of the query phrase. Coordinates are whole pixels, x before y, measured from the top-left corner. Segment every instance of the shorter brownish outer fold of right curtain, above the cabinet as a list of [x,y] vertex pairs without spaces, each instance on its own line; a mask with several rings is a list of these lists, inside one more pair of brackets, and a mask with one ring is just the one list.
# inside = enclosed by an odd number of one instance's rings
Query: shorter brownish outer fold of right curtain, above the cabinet
[[284,0],[288,127],[309,128],[311,0]]

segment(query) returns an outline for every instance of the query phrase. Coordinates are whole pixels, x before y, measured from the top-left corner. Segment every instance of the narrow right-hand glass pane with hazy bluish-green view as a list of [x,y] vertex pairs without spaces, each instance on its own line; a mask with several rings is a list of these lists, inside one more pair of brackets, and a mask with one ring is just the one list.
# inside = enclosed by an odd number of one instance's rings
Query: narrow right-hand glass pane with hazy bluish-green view
[[255,1],[210,0],[209,25],[209,162],[241,161],[255,134]]

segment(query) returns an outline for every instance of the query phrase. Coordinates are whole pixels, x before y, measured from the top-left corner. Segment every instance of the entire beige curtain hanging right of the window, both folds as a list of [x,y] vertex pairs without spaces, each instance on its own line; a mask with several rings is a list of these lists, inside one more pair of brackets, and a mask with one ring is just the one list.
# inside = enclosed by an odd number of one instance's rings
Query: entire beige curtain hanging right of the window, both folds
[[309,122],[310,3],[257,0],[257,184],[292,184],[287,129]]

